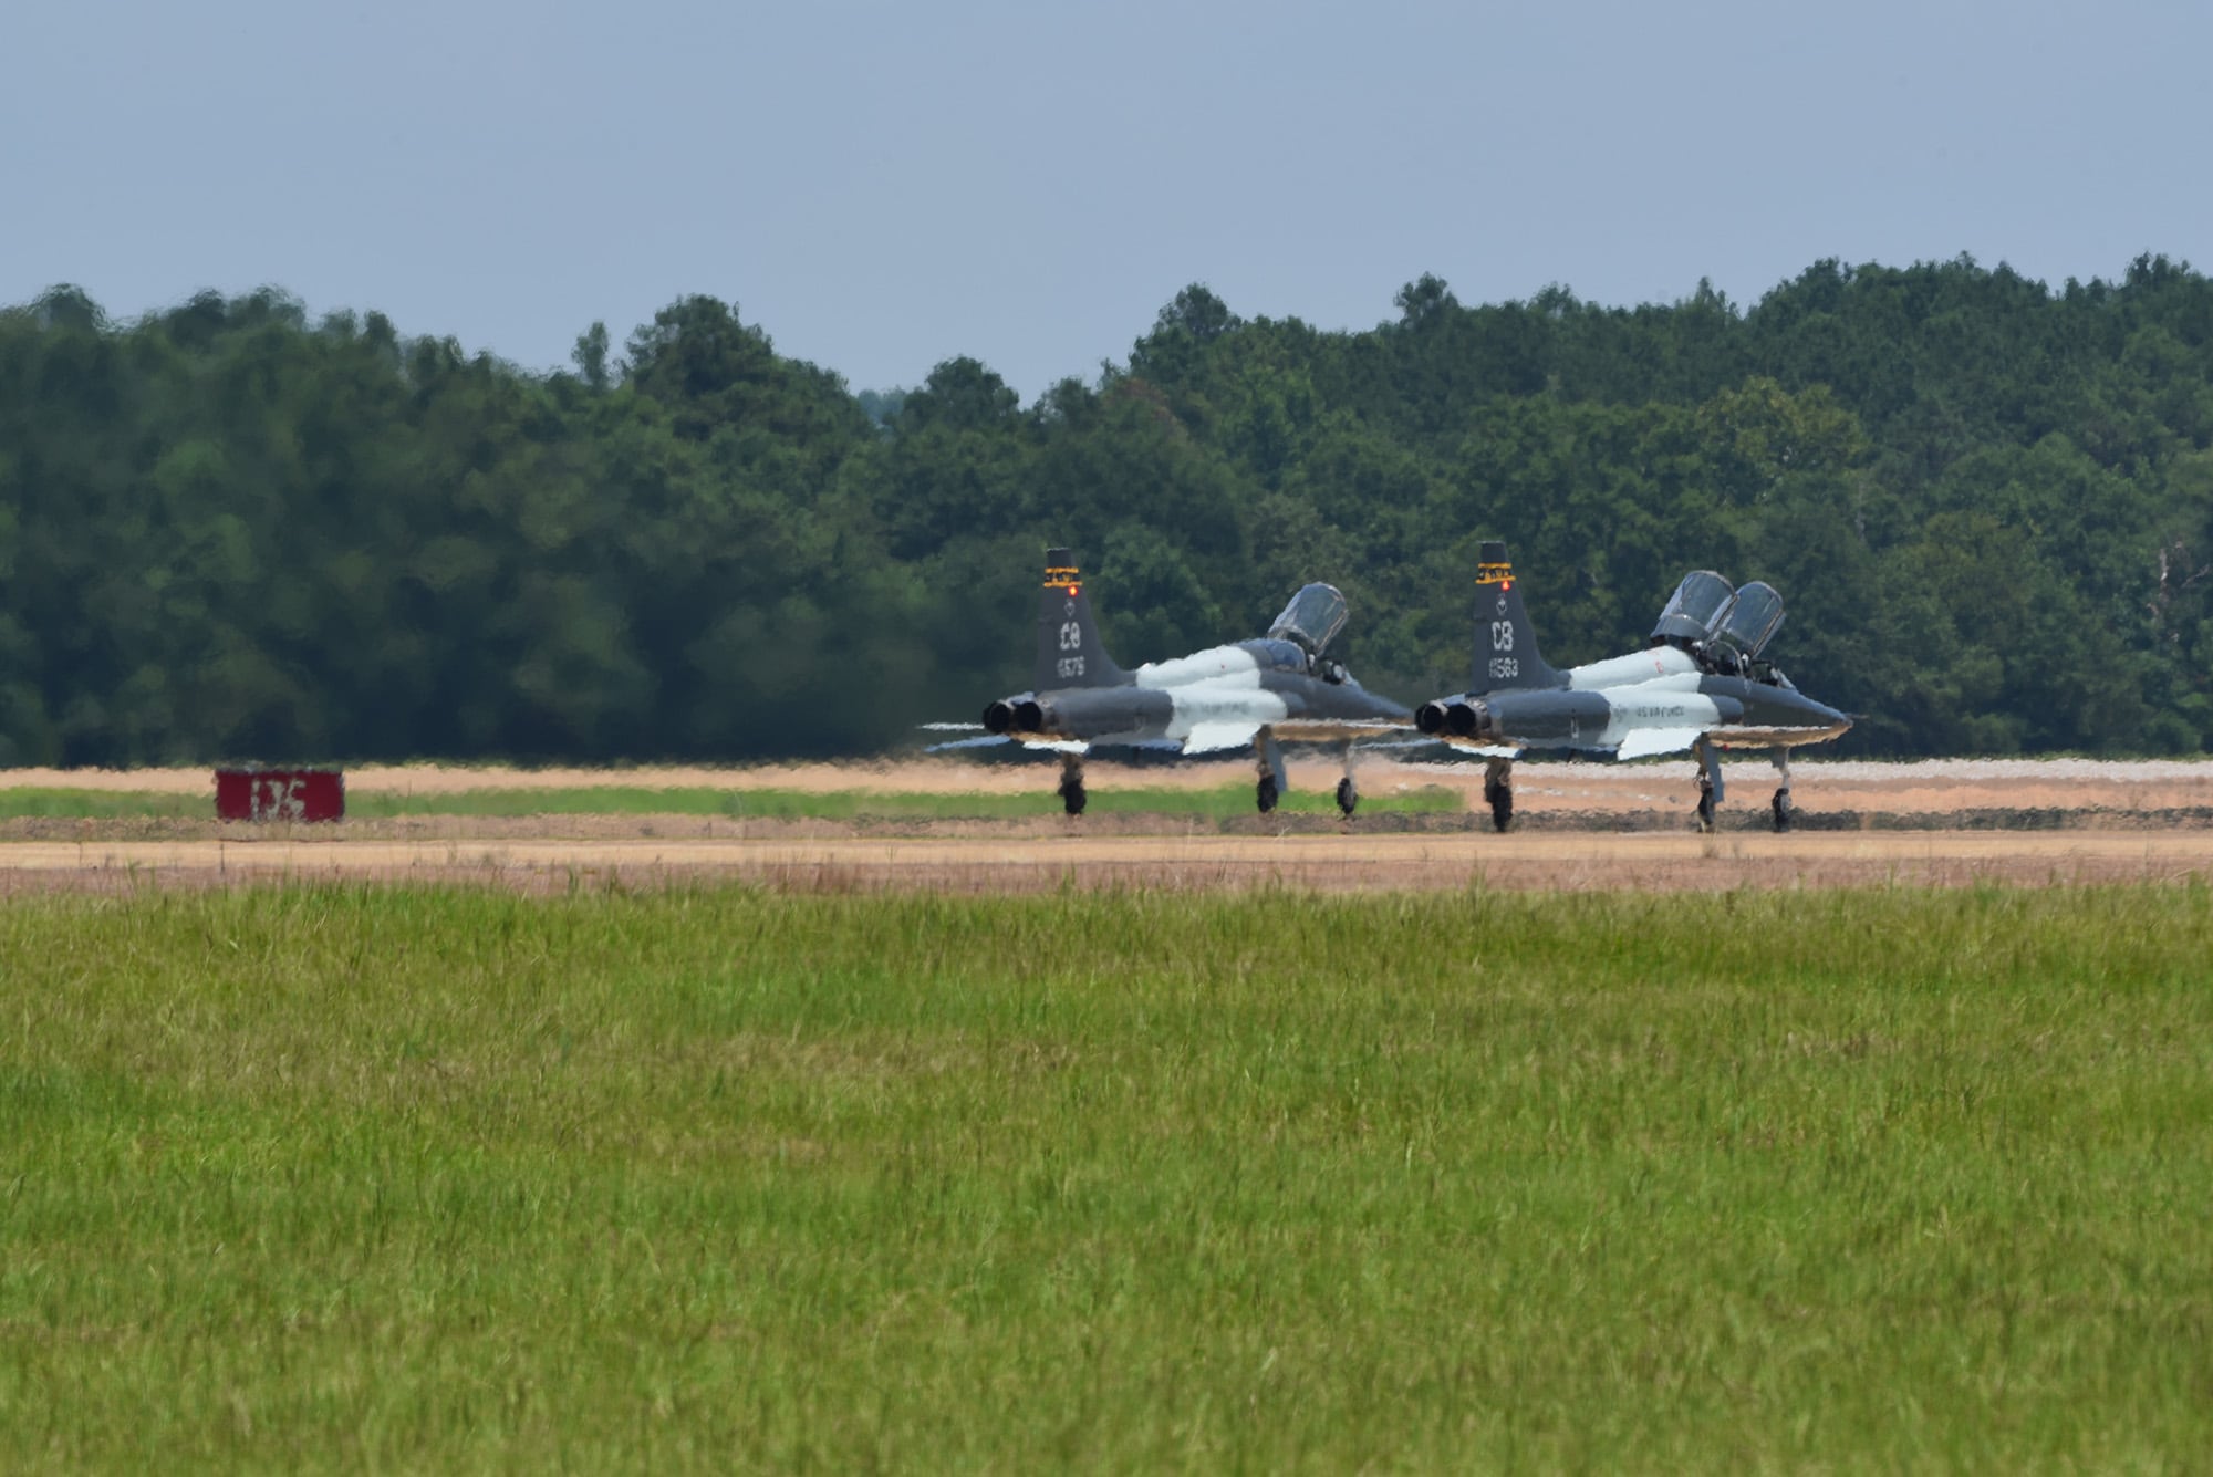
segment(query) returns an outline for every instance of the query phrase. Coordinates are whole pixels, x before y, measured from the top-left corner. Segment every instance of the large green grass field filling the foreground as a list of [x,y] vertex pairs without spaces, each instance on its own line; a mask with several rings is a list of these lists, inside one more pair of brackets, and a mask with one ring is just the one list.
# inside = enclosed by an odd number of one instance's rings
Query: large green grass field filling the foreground
[[2213,895],[0,904],[11,1466],[2193,1468]]

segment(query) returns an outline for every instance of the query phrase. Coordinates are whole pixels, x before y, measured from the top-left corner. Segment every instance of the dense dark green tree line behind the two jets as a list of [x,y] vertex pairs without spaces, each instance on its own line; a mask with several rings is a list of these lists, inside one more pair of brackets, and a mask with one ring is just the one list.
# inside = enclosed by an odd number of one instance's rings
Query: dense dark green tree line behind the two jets
[[520,374],[261,292],[0,312],[0,763],[863,752],[1027,681],[1047,542],[1124,663],[1306,579],[1407,701],[1467,672],[1480,537],[1554,661],[1677,575],[1790,599],[1846,752],[2213,738],[2213,281],[1819,263],[1753,307],[1465,307],[1370,332],[1204,287],[1022,407],[861,394],[733,305]]

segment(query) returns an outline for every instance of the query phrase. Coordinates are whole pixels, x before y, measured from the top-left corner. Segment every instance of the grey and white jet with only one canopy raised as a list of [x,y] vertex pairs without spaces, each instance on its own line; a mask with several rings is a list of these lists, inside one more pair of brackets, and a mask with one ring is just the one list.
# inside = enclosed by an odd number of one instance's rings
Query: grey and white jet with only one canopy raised
[[1093,747],[1164,747],[1211,754],[1253,745],[1261,811],[1281,798],[1281,743],[1339,743],[1346,776],[1337,807],[1359,805],[1352,743],[1405,730],[1407,710],[1368,692],[1326,652],[1346,624],[1346,597],[1310,584],[1290,597],[1266,637],[1213,646],[1124,672],[1100,643],[1091,597],[1067,548],[1045,551],[1038,599],[1038,668],[1029,692],[983,710],[991,734],[1060,752],[1060,803],[1084,811],[1084,756]]

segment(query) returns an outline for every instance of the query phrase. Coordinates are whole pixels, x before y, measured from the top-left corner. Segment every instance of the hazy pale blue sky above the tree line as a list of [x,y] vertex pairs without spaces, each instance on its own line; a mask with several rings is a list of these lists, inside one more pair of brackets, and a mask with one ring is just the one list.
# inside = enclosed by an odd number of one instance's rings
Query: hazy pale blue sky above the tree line
[[1821,256],[2213,268],[2213,7],[1870,0],[0,7],[0,303],[261,283],[564,365],[679,294],[1025,398],[1208,283],[1368,327]]

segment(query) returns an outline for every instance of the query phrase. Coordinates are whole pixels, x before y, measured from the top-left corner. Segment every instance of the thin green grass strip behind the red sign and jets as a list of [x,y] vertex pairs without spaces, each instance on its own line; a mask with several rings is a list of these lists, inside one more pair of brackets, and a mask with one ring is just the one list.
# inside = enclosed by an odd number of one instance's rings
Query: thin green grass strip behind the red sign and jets
[[[1038,772],[1033,794],[901,794],[867,789],[717,789],[646,785],[586,785],[575,789],[460,789],[449,794],[356,792],[345,798],[354,820],[394,816],[730,816],[759,820],[1009,820],[1058,816],[1056,774]],[[1337,814],[1328,789],[1295,789],[1281,809]],[[1461,792],[1427,785],[1407,794],[1361,796],[1361,814],[1463,811]],[[1228,820],[1253,814],[1246,783],[1211,789],[1091,787],[1093,816],[1168,814]],[[128,789],[0,789],[0,820],[18,816],[64,820],[188,818],[212,820],[215,798]]]

